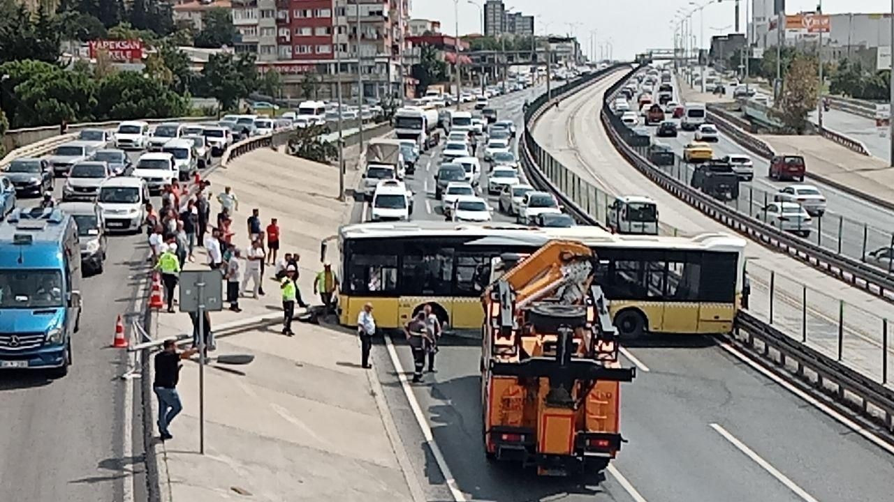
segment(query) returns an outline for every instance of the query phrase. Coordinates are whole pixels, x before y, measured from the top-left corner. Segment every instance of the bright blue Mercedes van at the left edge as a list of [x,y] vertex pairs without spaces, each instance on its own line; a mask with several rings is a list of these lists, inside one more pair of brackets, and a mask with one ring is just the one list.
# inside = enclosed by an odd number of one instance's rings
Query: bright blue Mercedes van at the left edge
[[59,209],[16,209],[0,223],[0,369],[62,377],[80,321],[80,246]]

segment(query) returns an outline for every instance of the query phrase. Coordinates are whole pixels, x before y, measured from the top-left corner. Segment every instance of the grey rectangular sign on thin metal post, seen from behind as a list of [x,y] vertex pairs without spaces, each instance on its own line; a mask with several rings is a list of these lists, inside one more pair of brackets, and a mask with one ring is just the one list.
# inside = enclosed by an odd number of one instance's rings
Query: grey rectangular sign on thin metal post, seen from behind
[[205,455],[205,313],[223,309],[223,275],[180,272],[180,311],[198,316],[198,453]]

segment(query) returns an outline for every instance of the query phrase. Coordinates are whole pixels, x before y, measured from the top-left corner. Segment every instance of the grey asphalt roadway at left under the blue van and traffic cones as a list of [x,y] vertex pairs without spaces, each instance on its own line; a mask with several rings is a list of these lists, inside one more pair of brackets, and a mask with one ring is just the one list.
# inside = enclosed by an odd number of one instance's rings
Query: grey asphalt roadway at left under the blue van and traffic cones
[[[139,152],[130,156],[135,163]],[[55,182],[60,199],[62,184]],[[19,205],[38,201],[22,199]],[[68,376],[52,381],[38,372],[0,372],[0,500],[145,499],[139,380],[118,380],[126,371],[125,355],[109,346],[117,315],[142,308],[134,303],[148,246],[145,234],[110,236],[108,244],[105,272],[83,281],[80,331],[72,342]],[[133,386],[130,409],[125,409],[125,385]],[[128,438],[126,422],[132,424]]]

